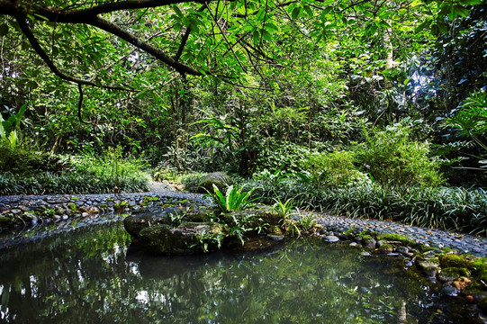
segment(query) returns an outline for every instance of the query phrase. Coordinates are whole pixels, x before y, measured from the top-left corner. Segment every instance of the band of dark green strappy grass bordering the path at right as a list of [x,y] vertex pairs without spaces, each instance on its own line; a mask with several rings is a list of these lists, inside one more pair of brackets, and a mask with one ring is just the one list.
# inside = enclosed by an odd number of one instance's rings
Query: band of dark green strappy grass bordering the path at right
[[269,197],[261,199],[264,203],[273,203],[277,194],[282,201],[293,199],[302,209],[487,236],[487,192],[483,189],[374,184],[318,188],[293,175],[261,177],[245,185],[256,188],[253,197]]

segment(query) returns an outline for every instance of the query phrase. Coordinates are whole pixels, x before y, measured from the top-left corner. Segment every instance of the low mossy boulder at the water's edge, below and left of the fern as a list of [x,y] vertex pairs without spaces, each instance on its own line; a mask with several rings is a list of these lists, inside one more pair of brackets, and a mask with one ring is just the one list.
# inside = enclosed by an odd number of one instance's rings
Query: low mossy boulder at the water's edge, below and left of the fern
[[164,224],[140,230],[137,240],[149,254],[186,256],[203,252],[202,243],[207,244],[207,251],[218,249],[215,238],[223,238],[227,230],[212,222],[187,222],[176,228]]

